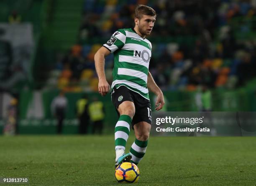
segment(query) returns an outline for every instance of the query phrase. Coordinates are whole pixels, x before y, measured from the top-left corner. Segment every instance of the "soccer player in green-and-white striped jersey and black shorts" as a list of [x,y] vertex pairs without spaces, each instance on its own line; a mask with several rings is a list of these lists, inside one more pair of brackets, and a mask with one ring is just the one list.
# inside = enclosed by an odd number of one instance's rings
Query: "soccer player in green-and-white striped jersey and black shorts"
[[[150,35],[156,12],[153,8],[138,5],[135,10],[135,27],[117,30],[95,54],[95,67],[99,77],[99,93],[105,96],[110,86],[105,77],[105,56],[114,54],[111,100],[118,112],[115,125],[115,166],[123,161],[138,164],[143,158],[151,129],[151,104],[148,89],[156,94],[156,110],[164,106],[164,96],[148,71],[151,58]],[[125,154],[126,141],[133,126],[136,139],[130,153]]]

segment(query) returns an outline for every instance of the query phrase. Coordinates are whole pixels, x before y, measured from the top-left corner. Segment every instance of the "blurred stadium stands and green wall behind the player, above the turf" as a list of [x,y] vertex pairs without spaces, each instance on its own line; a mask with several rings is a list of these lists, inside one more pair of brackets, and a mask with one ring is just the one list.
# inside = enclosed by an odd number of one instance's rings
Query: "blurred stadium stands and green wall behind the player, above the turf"
[[[0,131],[15,97],[19,134],[55,134],[50,105],[64,90],[64,133],[77,133],[75,107],[84,93],[104,103],[104,132],[113,133],[117,115],[110,95],[97,93],[93,57],[115,30],[133,26],[137,3],[158,14],[148,37],[150,71],[166,111],[198,111],[195,95],[203,85],[212,92],[212,111],[256,111],[255,0],[2,0]],[[11,23],[15,12],[19,23]],[[110,83],[112,67],[110,55]]]

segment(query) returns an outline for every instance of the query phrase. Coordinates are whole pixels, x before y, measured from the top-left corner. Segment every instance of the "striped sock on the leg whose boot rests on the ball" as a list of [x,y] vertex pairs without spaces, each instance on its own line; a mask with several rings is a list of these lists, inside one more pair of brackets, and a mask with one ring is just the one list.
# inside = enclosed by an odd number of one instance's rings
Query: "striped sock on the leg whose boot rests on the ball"
[[[117,124],[115,125],[115,150],[125,150],[126,141],[130,134],[131,117],[128,115],[120,115]],[[123,155],[123,154],[122,154]],[[120,154],[116,154],[120,157]],[[116,157],[118,159],[119,157]]]

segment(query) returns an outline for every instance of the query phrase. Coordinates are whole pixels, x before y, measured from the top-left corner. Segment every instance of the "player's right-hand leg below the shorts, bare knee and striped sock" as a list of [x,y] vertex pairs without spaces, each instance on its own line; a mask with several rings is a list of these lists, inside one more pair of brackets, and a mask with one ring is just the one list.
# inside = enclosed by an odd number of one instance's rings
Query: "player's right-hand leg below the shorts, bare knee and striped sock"
[[146,153],[151,124],[138,122],[133,126],[133,129],[136,139],[131,146],[130,153],[132,155],[132,162],[138,164]]

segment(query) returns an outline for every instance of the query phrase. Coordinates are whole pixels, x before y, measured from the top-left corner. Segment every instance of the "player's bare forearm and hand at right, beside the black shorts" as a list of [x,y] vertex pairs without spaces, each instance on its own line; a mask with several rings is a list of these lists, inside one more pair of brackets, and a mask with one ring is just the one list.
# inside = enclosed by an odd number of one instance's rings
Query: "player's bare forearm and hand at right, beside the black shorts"
[[148,72],[148,83],[147,87],[151,92],[156,94],[156,110],[161,110],[164,107],[164,94],[161,89],[157,86],[150,72]]

